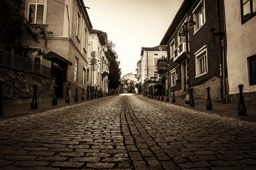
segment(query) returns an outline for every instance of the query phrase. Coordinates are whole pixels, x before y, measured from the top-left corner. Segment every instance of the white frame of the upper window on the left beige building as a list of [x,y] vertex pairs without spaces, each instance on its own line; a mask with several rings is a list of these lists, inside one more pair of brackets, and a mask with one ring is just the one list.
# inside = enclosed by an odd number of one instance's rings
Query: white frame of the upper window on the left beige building
[[[30,22],[30,5],[33,4],[35,5],[35,12],[34,12],[34,22]],[[28,12],[27,12],[27,20],[30,24],[41,24],[44,25],[46,24],[46,14],[47,14],[47,0],[44,0],[44,10],[43,10],[43,14],[42,14],[42,23],[36,23],[36,18],[37,18],[37,6],[42,5],[41,3],[38,3],[38,0],[36,0],[36,2],[30,2],[30,0],[28,0]]]

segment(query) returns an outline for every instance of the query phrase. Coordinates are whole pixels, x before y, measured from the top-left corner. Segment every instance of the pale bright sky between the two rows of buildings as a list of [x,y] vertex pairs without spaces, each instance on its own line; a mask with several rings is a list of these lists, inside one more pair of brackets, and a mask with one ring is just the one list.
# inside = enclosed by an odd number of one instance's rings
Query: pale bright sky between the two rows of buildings
[[[84,0],[93,29],[116,44],[122,75],[136,74],[142,47],[155,47],[183,0]],[[121,76],[122,76],[121,75]]]

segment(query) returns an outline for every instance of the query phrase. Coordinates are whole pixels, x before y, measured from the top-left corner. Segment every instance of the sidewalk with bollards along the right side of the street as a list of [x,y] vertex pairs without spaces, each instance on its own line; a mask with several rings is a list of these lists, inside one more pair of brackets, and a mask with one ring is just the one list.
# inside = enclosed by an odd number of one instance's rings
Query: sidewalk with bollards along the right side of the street
[[[145,98],[148,98],[148,97],[145,96]],[[153,99],[153,100],[162,101],[161,97],[159,100],[158,99]],[[162,102],[167,102],[166,96],[164,96],[164,101]],[[212,101],[212,110],[206,109],[206,99],[194,99],[194,107],[190,107],[190,104],[185,104],[184,98],[182,98],[181,96],[175,96],[174,103],[172,103],[172,96],[169,96],[168,103],[186,107],[193,110],[198,110],[201,112],[217,114],[222,117],[232,117],[232,118],[236,118],[238,120],[244,120],[247,122],[256,122],[256,106],[252,106],[252,105],[246,105],[247,116],[241,116],[241,115],[238,115],[238,104],[233,104],[233,103],[223,104],[222,102]]]

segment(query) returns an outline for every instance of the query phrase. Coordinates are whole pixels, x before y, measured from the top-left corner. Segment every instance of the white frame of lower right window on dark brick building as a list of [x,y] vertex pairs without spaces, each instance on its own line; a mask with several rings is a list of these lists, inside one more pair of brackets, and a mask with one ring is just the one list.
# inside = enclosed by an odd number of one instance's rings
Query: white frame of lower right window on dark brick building
[[[194,53],[194,58],[195,58],[195,62],[196,62],[196,77],[201,77],[202,75],[206,75],[208,74],[208,55],[207,55],[207,46],[204,45],[204,47],[202,47],[200,50],[198,50],[198,52]],[[200,71],[201,68],[201,63],[200,60],[202,58],[205,58],[205,62],[204,62],[204,72]]]

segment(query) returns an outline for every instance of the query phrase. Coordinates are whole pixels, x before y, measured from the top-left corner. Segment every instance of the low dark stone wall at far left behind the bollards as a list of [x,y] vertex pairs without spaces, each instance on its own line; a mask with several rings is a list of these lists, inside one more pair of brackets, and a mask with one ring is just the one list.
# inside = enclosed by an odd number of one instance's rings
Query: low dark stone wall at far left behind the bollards
[[52,99],[54,94],[55,79],[52,77],[0,65],[0,79],[4,80],[2,86],[3,102],[30,101],[33,98],[34,83],[38,84],[38,101]]

